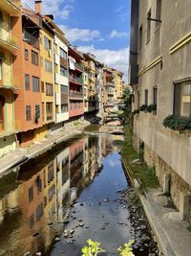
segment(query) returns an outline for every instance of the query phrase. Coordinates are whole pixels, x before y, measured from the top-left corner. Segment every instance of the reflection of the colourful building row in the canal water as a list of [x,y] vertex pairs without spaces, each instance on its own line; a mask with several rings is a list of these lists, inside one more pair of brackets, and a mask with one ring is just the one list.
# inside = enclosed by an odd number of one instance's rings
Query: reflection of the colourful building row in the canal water
[[76,136],[0,179],[0,255],[46,254],[70,205],[117,149],[112,136]]

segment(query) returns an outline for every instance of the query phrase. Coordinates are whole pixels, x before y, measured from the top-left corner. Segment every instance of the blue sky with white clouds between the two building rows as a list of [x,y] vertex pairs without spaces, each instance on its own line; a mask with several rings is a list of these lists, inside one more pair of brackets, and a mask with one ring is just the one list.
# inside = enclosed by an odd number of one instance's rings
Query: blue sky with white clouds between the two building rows
[[[33,9],[34,0],[22,0]],[[124,73],[127,81],[130,0],[43,0],[43,14],[53,14],[79,51]]]

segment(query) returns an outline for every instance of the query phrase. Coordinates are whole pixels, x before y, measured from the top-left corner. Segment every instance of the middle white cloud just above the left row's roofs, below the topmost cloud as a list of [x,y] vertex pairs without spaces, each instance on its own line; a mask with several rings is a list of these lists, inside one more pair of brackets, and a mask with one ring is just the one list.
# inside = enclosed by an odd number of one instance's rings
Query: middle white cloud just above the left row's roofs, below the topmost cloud
[[69,28],[65,25],[59,25],[59,27],[66,35],[67,39],[72,43],[77,40],[89,42],[94,38],[100,37],[100,32],[96,30]]

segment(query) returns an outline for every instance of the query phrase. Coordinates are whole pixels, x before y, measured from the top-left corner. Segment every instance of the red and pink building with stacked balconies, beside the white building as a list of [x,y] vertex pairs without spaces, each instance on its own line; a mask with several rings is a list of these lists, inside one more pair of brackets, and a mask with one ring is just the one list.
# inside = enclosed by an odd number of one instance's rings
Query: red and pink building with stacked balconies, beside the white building
[[69,117],[80,118],[84,114],[83,56],[75,47],[69,47]]

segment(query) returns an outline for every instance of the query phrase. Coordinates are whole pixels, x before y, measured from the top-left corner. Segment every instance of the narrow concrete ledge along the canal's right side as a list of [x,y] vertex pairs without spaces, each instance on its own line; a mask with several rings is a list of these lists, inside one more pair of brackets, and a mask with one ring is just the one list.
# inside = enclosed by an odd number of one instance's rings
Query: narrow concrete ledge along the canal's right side
[[154,233],[155,240],[159,245],[159,252],[162,253],[164,256],[178,256],[174,252],[174,249],[172,248],[172,246],[169,244],[169,240],[165,234],[165,230],[163,230],[161,224],[155,217],[153,210],[152,210],[152,205],[146,198],[146,192],[144,191],[144,196],[138,192],[138,184],[140,186],[141,183],[138,179],[136,179],[136,178],[134,179],[132,177],[132,175],[130,174],[128,164],[126,163],[126,160],[123,158],[122,154],[121,154],[121,161],[124,166],[125,172],[128,175],[130,183],[137,191],[138,198],[140,199],[141,204],[144,209],[144,213],[145,213],[147,220],[149,221],[150,227]]

